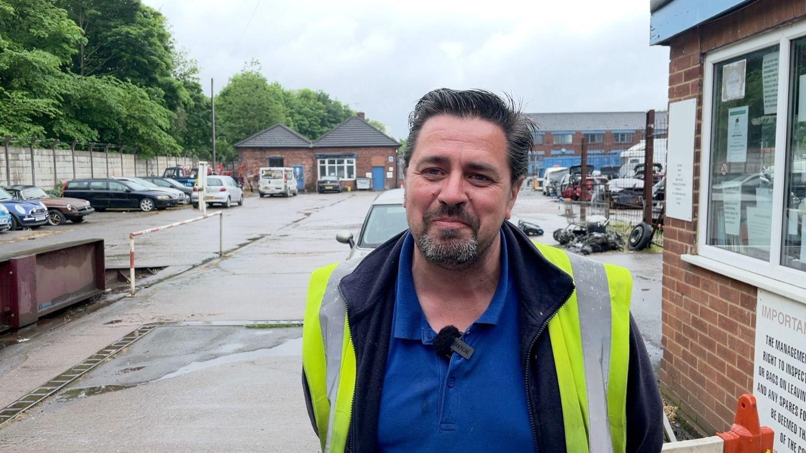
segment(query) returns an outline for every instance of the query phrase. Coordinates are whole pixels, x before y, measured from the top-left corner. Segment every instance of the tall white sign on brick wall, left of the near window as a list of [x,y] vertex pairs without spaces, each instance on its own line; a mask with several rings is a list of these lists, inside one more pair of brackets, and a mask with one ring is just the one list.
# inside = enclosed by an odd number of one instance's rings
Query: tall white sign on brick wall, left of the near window
[[697,100],[687,99],[669,104],[669,138],[667,139],[666,215],[692,221],[694,202],[694,132]]

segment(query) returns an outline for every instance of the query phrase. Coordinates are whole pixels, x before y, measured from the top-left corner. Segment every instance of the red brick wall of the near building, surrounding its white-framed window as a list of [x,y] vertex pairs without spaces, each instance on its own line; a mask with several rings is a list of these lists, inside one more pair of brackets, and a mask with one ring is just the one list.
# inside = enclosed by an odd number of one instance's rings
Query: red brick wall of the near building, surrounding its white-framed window
[[[667,219],[663,251],[663,393],[708,433],[727,430],[752,392],[756,291],[680,260],[696,252],[703,62],[707,52],[806,15],[806,2],[759,0],[671,39],[669,102],[697,99],[693,222]],[[703,227],[705,227],[703,225]]]

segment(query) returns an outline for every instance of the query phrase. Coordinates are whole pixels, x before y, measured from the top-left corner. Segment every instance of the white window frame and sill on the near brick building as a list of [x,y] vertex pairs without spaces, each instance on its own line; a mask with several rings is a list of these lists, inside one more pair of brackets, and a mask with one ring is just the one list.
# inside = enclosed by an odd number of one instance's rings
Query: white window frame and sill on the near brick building
[[[775,282],[781,282],[794,286],[796,289],[806,289],[806,272],[794,268],[788,268],[780,264],[781,246],[783,243],[783,201],[786,184],[786,158],[787,148],[787,127],[789,114],[789,64],[790,64],[790,41],[806,36],[806,21],[795,23],[787,27],[781,27],[775,31],[770,31],[762,35],[745,39],[736,44],[713,52],[708,52],[704,61],[704,85],[703,85],[703,108],[702,108],[702,131],[700,135],[700,206],[697,218],[697,255],[717,261],[708,264],[702,260],[697,260],[695,256],[683,256],[683,260],[692,264],[701,265],[704,268],[711,268],[715,272],[725,275],[739,275],[752,273],[758,278],[747,281],[748,283],[761,287],[776,287]],[[723,250],[713,245],[708,245],[708,193],[711,190],[711,129],[713,127],[713,74],[714,65],[722,61],[729,60],[735,56],[742,56],[746,53],[754,52],[762,48],[768,48],[778,44],[778,108],[775,112],[775,172],[772,196],[772,226],[770,259],[761,260],[741,253]],[[791,289],[791,288],[790,288]],[[800,293],[800,292],[799,292]]]

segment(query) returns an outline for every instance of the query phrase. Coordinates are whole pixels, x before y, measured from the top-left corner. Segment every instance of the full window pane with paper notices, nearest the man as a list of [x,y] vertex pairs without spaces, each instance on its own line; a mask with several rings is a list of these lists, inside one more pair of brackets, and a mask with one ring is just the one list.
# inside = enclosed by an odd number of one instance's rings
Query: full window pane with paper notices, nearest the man
[[777,60],[773,46],[714,65],[707,241],[762,260],[770,259]]

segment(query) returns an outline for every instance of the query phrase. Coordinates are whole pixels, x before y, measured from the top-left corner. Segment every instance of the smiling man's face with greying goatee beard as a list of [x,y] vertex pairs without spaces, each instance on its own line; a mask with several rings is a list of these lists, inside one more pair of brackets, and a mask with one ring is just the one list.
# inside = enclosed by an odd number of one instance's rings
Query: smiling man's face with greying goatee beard
[[426,260],[462,269],[483,256],[512,213],[521,179],[510,181],[501,127],[449,115],[427,120],[406,170],[404,199]]

